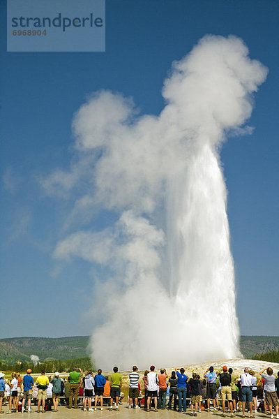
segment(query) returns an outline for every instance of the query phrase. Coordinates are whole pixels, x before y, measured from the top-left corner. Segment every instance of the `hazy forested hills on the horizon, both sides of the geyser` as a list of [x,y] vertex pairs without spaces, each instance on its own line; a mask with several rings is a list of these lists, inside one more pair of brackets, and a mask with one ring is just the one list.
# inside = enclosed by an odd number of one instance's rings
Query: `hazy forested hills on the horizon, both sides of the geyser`
[[[13,337],[0,339],[0,360],[6,363],[26,362],[30,355],[37,355],[40,361],[69,360],[84,358],[89,336],[73,337]],[[252,358],[256,353],[279,351],[279,336],[241,336],[241,353]]]

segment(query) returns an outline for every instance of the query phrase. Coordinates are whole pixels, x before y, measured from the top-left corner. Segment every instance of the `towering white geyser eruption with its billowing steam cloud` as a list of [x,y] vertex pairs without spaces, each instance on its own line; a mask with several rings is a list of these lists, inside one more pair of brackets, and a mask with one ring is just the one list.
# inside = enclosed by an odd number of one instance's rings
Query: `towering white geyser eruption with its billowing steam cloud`
[[252,112],[267,70],[234,36],[205,36],[165,80],[165,108],[138,116],[133,102],[100,91],[75,115],[79,154],[44,186],[82,191],[64,228],[100,209],[119,214],[102,231],[76,230],[57,259],[107,266],[96,287],[91,348],[97,367],[160,366],[239,353],[227,191],[218,149]]

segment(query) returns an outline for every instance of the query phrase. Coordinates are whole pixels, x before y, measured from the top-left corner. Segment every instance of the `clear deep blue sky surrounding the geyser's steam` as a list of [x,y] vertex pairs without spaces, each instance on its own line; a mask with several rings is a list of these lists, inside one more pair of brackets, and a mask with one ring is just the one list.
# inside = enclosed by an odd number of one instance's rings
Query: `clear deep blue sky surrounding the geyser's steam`
[[[86,97],[119,91],[143,114],[163,109],[163,80],[205,34],[243,39],[269,68],[248,121],[221,159],[236,267],[242,335],[278,335],[278,1],[107,0],[106,52],[6,52],[1,2],[0,337],[89,335],[100,267],[52,253],[73,198],[53,198],[40,180],[75,160],[71,124]],[[94,214],[100,230],[116,214]],[[268,305],[268,309],[266,306]]]

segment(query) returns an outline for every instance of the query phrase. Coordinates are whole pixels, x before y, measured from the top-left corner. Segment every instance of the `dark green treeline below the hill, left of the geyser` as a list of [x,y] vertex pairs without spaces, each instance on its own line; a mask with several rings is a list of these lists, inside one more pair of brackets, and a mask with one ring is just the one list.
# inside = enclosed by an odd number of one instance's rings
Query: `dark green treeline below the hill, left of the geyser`
[[74,367],[80,367],[82,371],[86,369],[92,369],[95,371],[93,363],[89,356],[84,358],[73,358],[70,360],[48,360],[46,362],[38,362],[37,365],[33,365],[33,362],[17,362],[16,364],[6,364],[0,361],[1,371],[14,371],[14,372],[26,372],[28,368],[31,368],[33,373],[40,373],[43,369],[45,372],[70,372]]

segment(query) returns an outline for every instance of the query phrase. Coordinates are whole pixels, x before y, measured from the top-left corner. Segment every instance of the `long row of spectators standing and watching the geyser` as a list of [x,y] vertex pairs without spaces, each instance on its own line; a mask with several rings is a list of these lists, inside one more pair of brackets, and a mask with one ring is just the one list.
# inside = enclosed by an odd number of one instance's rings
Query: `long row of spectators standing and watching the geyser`
[[[58,411],[59,400],[68,409],[80,409],[78,403],[82,399],[84,411],[94,411],[98,407],[103,410],[104,399],[108,402],[109,409],[119,409],[119,403],[123,399],[123,377],[114,367],[113,373],[104,376],[102,370],[97,374],[91,370],[83,374],[82,369],[75,368],[67,378],[60,378],[59,372],[47,377],[45,371],[35,380],[31,376],[31,369],[27,374],[13,372],[11,379],[5,379],[5,374],[0,372],[0,413],[3,402],[8,404],[8,411],[17,413],[31,413],[31,401],[36,401],[37,412],[52,409]],[[202,410],[217,412],[219,409],[226,416],[234,417],[240,412],[246,416],[246,409],[250,418],[255,418],[255,413],[262,409],[271,415],[278,414],[279,397],[279,372],[278,377],[273,375],[269,367],[259,372],[260,378],[256,378],[255,372],[245,368],[243,374],[234,374],[232,368],[223,366],[222,372],[215,372],[211,366],[204,372],[201,378],[196,372],[192,377],[186,375],[185,369],[180,368],[172,371],[168,376],[166,369],[155,372],[155,366],[151,365],[146,370],[142,379],[137,366],[133,366],[129,374],[128,409],[146,409],[147,412],[154,408],[169,409],[186,413],[190,408],[190,416],[197,416]],[[141,383],[142,389],[141,389]],[[221,399],[221,407],[219,405]],[[51,403],[50,403],[51,402]],[[52,406],[50,406],[52,405]]]

